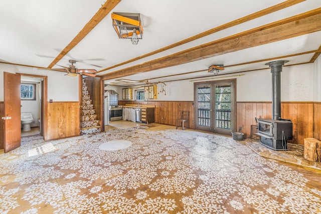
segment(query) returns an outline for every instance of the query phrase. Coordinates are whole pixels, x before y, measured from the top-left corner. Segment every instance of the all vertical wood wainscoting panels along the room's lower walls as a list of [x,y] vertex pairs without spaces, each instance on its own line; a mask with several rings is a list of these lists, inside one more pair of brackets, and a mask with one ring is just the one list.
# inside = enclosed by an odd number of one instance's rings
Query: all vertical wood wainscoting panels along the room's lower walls
[[[136,101],[119,101],[119,105],[137,104]],[[155,123],[176,125],[182,110],[190,111],[188,128],[195,129],[194,106],[192,101],[144,101],[141,105],[155,105]],[[80,132],[79,103],[53,102],[48,106],[47,139],[52,140],[77,136]],[[306,137],[321,139],[321,102],[282,102],[281,117],[293,122],[293,143],[303,144]],[[0,102],[0,116],[4,114],[4,103]],[[271,118],[271,102],[237,102],[236,127],[242,127],[245,137],[251,135],[255,117]],[[4,123],[0,120],[0,149],[4,145]]]

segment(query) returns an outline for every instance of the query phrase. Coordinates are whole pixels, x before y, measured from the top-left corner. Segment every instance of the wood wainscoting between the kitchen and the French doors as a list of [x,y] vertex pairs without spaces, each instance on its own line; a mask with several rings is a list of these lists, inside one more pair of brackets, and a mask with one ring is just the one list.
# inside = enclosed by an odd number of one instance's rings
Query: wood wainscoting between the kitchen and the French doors
[[190,111],[187,128],[195,129],[193,101],[118,101],[118,105],[125,104],[155,105],[155,123],[176,125],[181,111]]

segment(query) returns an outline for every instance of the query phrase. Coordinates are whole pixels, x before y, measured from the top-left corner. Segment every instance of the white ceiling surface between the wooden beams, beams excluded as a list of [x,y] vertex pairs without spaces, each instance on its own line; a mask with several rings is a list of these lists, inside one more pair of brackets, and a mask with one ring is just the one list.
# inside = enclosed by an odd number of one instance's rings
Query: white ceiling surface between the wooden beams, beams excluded
[[[57,64],[68,66],[68,60],[73,59],[78,61],[77,68],[99,71],[282,2],[284,0],[122,0],[111,12],[141,14],[144,33],[143,39],[139,40],[138,45],[132,45],[130,40],[118,39],[112,27],[109,13]],[[2,0],[0,7],[0,62],[47,68],[104,4],[105,1],[101,0]],[[307,0],[187,44],[100,72],[98,75],[142,64],[320,7],[321,1]],[[204,77],[213,75],[206,71],[213,64],[231,66],[298,54],[317,50],[320,44],[321,31],[318,31],[191,63],[130,75],[121,79],[152,79],[154,82],[166,82]],[[308,62],[313,54],[287,57],[286,60],[289,60],[287,65]],[[242,66],[231,66],[220,73],[230,74],[262,69],[267,67],[264,65],[265,63],[266,61],[262,61]],[[54,66],[54,68],[59,67]],[[42,71],[44,75],[48,72]],[[194,71],[201,72],[184,74]],[[174,74],[182,75],[165,77]],[[114,80],[107,80],[106,83]]]

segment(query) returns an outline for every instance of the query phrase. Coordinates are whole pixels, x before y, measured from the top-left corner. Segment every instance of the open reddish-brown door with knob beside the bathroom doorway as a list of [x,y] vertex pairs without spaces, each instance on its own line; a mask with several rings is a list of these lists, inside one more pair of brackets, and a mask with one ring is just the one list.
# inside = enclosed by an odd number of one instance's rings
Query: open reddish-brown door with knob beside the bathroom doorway
[[4,72],[4,152],[21,145],[20,75]]

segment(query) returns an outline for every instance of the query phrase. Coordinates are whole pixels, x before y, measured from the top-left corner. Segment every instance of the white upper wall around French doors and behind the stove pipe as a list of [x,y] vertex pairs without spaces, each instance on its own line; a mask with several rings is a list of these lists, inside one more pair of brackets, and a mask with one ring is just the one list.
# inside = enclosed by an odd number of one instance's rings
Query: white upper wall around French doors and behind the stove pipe
[[[320,57],[319,57],[320,58]],[[313,101],[313,89],[315,91],[320,90],[320,78],[321,78],[321,60],[318,59],[318,76],[314,74],[313,77],[313,64],[305,64],[298,66],[283,67],[281,73],[281,101]],[[314,65],[314,67],[316,67]],[[314,72],[315,73],[315,72]],[[234,76],[234,75],[232,75]],[[226,78],[218,77],[216,79],[202,78],[203,80],[182,80],[167,82],[166,95],[165,93],[159,93],[157,101],[193,101],[194,100],[194,83],[205,81],[217,81],[224,79],[236,78],[236,100],[238,102],[271,102],[272,101],[272,76],[271,70],[259,70],[240,73],[239,76],[231,77],[226,75]],[[313,78],[314,86],[313,88]],[[318,81],[318,83],[316,83]],[[158,91],[161,84],[158,84]],[[126,87],[121,87],[126,88]],[[121,95],[121,88],[118,90]],[[120,90],[119,90],[120,89]],[[117,91],[117,92],[118,92]],[[318,98],[321,99],[319,92]],[[316,98],[315,98],[316,99]],[[121,100],[121,96],[120,96]]]

